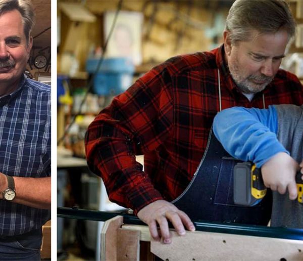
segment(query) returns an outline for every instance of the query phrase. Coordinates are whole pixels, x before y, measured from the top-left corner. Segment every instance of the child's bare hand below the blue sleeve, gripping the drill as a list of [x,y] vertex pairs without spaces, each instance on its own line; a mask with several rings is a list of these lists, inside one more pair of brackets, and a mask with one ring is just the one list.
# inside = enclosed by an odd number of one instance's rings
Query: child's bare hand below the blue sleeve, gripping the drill
[[289,199],[296,199],[295,174],[298,169],[298,163],[287,153],[277,153],[261,167],[264,185],[280,194],[284,194],[287,189]]

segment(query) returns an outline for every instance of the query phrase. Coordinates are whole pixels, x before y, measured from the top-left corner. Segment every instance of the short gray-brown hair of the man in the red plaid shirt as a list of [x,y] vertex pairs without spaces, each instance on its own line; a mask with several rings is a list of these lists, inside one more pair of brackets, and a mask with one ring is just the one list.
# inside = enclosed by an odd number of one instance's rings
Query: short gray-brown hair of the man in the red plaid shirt
[[295,34],[296,23],[284,0],[236,0],[229,10],[225,30],[231,43],[248,40],[251,31],[275,33],[285,30],[288,40]]

